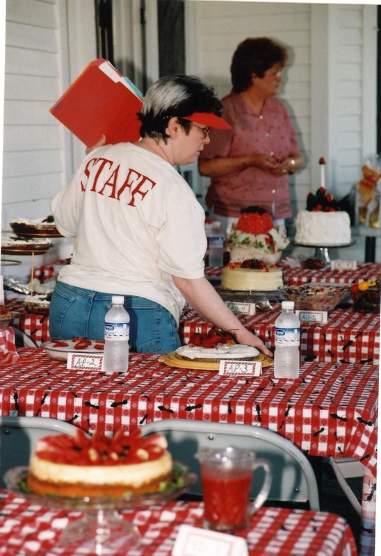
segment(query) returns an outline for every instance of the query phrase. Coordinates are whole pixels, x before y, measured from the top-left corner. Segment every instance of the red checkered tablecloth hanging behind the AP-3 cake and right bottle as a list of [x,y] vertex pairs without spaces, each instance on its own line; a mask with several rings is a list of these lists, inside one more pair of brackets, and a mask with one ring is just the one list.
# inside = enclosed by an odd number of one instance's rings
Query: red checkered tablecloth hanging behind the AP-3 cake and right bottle
[[[280,312],[279,304],[273,306],[273,311],[238,316],[243,325],[259,336],[268,347],[274,347],[275,320]],[[186,311],[180,319],[181,343],[188,343],[195,332],[206,334],[211,327],[211,323],[195,311]],[[302,361],[378,364],[380,315],[360,313],[350,307],[330,311],[326,325],[302,322],[300,357]]]

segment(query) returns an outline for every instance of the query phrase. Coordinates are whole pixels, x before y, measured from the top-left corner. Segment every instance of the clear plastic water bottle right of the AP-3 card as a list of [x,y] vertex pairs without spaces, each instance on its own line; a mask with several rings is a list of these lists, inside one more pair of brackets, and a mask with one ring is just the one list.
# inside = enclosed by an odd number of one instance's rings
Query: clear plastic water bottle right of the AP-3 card
[[282,313],[275,320],[275,378],[298,378],[300,363],[300,322],[293,301],[282,301]]

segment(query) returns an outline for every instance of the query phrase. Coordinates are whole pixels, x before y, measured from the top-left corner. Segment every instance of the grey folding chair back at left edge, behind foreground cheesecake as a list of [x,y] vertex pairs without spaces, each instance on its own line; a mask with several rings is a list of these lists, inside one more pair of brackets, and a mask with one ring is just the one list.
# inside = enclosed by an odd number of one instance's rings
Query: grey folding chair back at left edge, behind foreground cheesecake
[[35,442],[47,434],[71,436],[77,427],[47,417],[0,417],[0,488],[8,469],[28,465]]

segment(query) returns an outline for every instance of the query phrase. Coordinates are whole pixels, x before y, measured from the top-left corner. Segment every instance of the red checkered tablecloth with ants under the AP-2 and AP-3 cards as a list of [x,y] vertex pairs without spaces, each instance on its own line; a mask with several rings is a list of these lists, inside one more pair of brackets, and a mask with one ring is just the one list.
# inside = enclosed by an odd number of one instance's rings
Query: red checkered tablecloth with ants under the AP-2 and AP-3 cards
[[0,371],[2,415],[57,418],[90,432],[166,418],[243,423],[274,430],[309,455],[355,457],[366,466],[363,536],[374,546],[378,366],[305,362],[295,380],[275,379],[272,367],[232,379],[131,354],[127,375],[104,375],[67,370],[40,349],[19,353]]

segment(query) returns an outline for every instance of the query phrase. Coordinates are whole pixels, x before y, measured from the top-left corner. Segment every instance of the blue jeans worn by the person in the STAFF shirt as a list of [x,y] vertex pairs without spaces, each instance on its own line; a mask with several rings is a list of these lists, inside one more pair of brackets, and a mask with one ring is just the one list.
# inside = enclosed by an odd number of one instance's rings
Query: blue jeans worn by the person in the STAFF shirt
[[[50,302],[51,339],[104,338],[104,317],[111,307],[111,297],[111,293],[58,282]],[[144,297],[124,295],[124,309],[130,316],[131,351],[169,353],[181,345],[175,318],[163,306]]]

